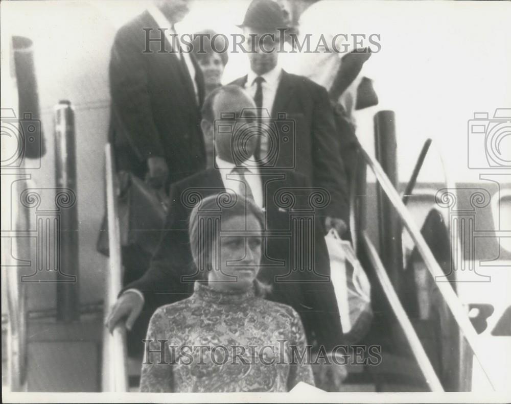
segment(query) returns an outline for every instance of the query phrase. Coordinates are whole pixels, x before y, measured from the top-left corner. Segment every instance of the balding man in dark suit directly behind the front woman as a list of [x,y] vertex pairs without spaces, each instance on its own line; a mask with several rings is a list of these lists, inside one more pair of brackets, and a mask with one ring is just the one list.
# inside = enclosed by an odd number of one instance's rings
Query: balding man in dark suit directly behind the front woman
[[[328,199],[321,198],[321,191],[311,188],[300,174],[258,167],[253,157],[255,137],[244,130],[254,125],[254,107],[248,94],[235,85],[216,89],[207,97],[202,129],[215,136],[216,168],[173,184],[166,230],[150,269],[121,293],[107,320],[110,329],[125,317],[130,328],[144,305],[154,310],[191,295],[198,274],[189,243],[190,212],[208,195],[223,198],[233,192],[253,199],[263,209],[266,227],[259,278],[272,286],[269,298],[295,308],[309,343],[316,348],[329,351],[340,343],[342,330],[324,229],[314,218],[315,205],[320,200],[327,204]],[[240,117],[242,111],[246,114]],[[230,115],[218,121],[221,112]],[[229,124],[238,129],[219,130]]]

